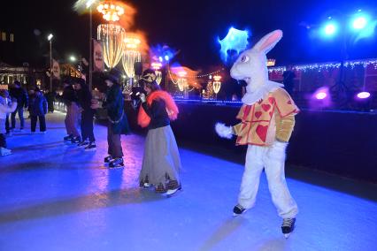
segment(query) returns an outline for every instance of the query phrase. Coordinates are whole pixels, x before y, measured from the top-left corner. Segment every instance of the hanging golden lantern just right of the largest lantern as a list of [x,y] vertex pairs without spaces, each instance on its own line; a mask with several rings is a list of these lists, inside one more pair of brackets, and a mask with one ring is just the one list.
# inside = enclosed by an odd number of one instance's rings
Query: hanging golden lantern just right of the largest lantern
[[122,65],[128,78],[132,79],[135,77],[135,63],[142,61],[142,56],[138,47],[141,41],[135,37],[127,37],[124,39],[125,50],[122,57]]

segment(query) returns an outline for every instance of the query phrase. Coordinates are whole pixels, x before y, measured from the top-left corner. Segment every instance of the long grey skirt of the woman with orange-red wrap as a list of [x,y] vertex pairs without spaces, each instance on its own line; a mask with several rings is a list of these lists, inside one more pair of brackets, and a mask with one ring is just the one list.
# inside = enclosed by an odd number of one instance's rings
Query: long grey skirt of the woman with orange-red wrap
[[145,140],[140,186],[155,186],[156,192],[181,187],[179,171],[181,158],[170,125],[150,129]]

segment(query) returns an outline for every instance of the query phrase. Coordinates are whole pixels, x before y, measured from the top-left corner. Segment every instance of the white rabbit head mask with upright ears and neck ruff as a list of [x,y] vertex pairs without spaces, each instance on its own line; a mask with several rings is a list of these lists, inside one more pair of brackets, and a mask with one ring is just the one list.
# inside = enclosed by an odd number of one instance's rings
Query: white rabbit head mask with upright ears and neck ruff
[[281,37],[281,30],[266,34],[253,48],[243,51],[232,66],[230,70],[232,78],[245,80],[247,83],[242,103],[248,105],[256,103],[269,92],[283,86],[268,80],[267,57],[265,56],[281,40]]

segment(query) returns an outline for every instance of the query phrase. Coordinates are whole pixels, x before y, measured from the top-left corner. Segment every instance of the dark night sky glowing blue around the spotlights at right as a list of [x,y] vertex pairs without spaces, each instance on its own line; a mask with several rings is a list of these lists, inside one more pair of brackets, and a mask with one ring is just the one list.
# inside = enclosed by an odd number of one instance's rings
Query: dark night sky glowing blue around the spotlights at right
[[[208,69],[220,64],[217,36],[224,37],[231,26],[248,29],[252,34],[251,44],[263,34],[281,28],[284,37],[269,54],[277,59],[278,65],[338,60],[339,38],[320,40],[311,35],[313,28],[307,29],[303,24],[315,27],[326,20],[327,15],[341,11],[350,14],[358,9],[377,17],[377,1],[356,2],[134,0],[127,3],[138,11],[133,29],[147,34],[151,45],[166,43],[181,50],[175,58],[181,65]],[[7,63],[44,65],[49,51],[46,40],[49,33],[54,34],[54,57],[60,61],[71,54],[88,58],[88,15],[78,15],[73,11],[73,4],[74,1],[64,0],[2,3],[0,30],[12,31],[17,42],[14,62]],[[100,22],[102,17],[96,14],[94,34]],[[41,34],[35,33],[36,30]],[[377,57],[376,44],[377,34],[351,44],[350,58]]]

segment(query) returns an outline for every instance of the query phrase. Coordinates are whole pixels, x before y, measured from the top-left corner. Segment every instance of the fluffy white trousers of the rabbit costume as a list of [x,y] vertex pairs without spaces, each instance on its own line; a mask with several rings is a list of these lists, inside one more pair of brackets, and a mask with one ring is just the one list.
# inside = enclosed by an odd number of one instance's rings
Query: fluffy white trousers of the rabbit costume
[[238,203],[244,209],[254,206],[259,177],[263,169],[268,181],[273,204],[282,218],[293,218],[298,213],[296,202],[289,194],[284,174],[285,149],[287,143],[275,141],[271,147],[249,145],[245,171],[242,176]]

